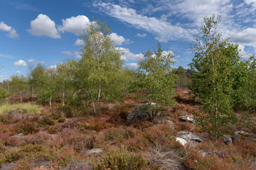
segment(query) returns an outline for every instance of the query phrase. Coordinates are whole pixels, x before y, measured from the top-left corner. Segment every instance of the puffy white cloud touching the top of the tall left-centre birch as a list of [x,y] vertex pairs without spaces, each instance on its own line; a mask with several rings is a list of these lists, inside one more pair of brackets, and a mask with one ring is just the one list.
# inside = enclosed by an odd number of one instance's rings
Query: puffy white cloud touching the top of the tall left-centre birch
[[70,18],[63,19],[63,26],[58,26],[58,30],[62,33],[70,32],[75,35],[80,35],[82,30],[90,23],[87,16],[71,16]]

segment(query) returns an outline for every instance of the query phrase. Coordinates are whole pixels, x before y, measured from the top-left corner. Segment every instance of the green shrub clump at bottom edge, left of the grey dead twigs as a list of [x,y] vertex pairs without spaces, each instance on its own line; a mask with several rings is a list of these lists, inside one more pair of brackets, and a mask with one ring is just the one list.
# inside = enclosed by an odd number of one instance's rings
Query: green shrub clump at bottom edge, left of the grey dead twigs
[[94,169],[129,170],[143,169],[146,167],[146,160],[142,154],[128,152],[124,147],[109,149],[102,158],[95,160]]

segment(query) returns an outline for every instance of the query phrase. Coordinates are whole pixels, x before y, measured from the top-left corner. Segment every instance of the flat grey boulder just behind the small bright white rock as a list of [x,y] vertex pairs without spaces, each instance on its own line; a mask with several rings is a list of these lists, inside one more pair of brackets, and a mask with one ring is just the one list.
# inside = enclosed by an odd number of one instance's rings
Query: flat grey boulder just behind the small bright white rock
[[201,143],[205,140],[203,137],[200,137],[192,132],[187,131],[179,131],[178,137],[181,137],[182,139],[186,140],[186,142],[190,145],[195,145],[196,143]]

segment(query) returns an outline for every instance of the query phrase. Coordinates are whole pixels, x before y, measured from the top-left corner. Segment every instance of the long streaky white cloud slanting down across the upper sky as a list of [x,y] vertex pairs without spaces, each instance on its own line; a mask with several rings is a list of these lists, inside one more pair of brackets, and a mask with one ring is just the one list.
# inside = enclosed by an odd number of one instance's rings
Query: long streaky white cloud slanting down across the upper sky
[[155,17],[142,16],[133,8],[125,8],[111,3],[98,3],[94,6],[100,8],[100,11],[107,13],[109,16],[129,23],[135,28],[146,30],[156,35],[156,40],[167,42],[168,40],[192,40],[193,30],[186,30],[181,26],[174,26],[166,21],[161,21]]

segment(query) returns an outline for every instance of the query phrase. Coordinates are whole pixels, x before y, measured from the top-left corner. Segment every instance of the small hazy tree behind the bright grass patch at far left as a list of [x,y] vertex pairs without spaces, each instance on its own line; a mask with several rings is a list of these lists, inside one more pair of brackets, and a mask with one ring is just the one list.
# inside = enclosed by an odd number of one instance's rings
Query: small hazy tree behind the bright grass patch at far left
[[26,94],[27,89],[28,89],[28,82],[27,82],[26,77],[13,75],[11,77],[10,86],[11,86],[11,93],[19,94],[20,100],[22,101],[23,96],[24,96],[24,94]]

